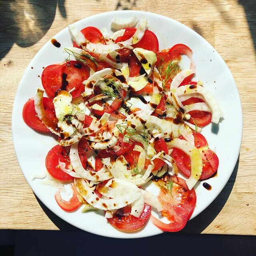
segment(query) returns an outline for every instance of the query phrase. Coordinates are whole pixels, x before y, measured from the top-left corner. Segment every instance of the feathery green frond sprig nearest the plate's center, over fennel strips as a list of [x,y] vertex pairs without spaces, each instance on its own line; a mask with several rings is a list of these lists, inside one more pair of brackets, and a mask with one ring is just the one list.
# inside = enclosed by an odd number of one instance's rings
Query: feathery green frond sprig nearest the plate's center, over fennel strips
[[118,128],[120,133],[124,136],[124,138],[126,138],[127,142],[131,143],[141,141],[143,146],[149,145],[149,134],[145,126],[143,126],[142,131],[137,131],[136,129],[128,128],[127,122],[124,121],[121,124],[116,124],[116,128]]

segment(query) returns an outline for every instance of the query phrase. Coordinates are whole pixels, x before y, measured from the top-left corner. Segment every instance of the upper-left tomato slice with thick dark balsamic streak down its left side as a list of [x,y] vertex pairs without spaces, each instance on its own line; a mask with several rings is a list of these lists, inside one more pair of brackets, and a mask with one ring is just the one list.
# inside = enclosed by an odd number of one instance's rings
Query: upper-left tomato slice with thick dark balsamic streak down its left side
[[82,83],[89,77],[88,69],[79,61],[72,60],[64,64],[65,68],[62,74],[62,90],[70,91],[73,98],[80,96],[84,92]]

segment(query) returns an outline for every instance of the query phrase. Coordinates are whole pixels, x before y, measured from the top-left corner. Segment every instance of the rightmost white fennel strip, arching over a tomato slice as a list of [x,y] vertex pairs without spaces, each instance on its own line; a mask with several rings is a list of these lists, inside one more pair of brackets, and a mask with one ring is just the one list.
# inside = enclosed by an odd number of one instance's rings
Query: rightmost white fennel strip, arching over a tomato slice
[[193,86],[191,88],[191,85],[184,85],[184,86],[180,86],[177,89],[177,93],[178,95],[193,95],[193,94],[201,94],[204,97],[204,101],[206,102],[206,104],[208,104],[211,112],[212,112],[212,122],[215,124],[218,124],[220,118],[223,117],[223,112],[216,100],[216,98],[214,97],[214,95],[209,92],[208,90],[206,90],[204,87],[197,85],[197,86]]

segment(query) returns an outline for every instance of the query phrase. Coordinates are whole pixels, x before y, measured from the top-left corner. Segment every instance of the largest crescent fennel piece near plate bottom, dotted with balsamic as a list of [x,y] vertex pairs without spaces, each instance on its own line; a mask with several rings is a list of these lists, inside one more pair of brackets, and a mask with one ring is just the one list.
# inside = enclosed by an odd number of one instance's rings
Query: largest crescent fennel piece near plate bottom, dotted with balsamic
[[128,204],[132,204],[135,200],[138,200],[142,197],[140,189],[137,186],[115,178],[110,180],[110,187],[116,186],[117,184],[121,184],[122,190],[119,195],[115,198],[99,198],[96,193],[94,193],[94,189],[90,188],[89,184],[82,179],[76,179],[75,185],[78,188],[79,194],[88,202],[88,204],[98,208],[100,210],[115,210],[120,209]]

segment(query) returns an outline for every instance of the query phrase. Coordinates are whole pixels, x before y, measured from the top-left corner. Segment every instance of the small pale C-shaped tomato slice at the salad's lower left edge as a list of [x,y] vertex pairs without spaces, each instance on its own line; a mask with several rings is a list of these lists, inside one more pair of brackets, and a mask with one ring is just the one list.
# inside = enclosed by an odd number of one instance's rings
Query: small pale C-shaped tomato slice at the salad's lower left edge
[[76,190],[74,183],[72,183],[71,188],[73,190],[73,196],[68,201],[65,201],[62,199],[62,197],[60,195],[60,190],[58,190],[54,196],[55,200],[56,200],[57,204],[60,206],[60,208],[62,208],[63,210],[65,210],[67,212],[74,211],[81,205],[81,202],[78,197],[79,194]]

